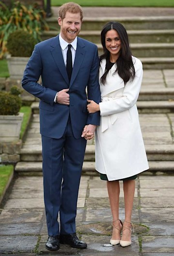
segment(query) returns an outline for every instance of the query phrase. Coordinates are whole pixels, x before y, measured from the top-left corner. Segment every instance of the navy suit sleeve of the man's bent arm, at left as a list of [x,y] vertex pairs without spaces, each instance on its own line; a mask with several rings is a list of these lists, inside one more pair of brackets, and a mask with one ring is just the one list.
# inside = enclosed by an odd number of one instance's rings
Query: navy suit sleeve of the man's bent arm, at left
[[38,83],[42,69],[42,57],[39,47],[36,45],[24,71],[22,87],[30,94],[53,105],[57,92]]

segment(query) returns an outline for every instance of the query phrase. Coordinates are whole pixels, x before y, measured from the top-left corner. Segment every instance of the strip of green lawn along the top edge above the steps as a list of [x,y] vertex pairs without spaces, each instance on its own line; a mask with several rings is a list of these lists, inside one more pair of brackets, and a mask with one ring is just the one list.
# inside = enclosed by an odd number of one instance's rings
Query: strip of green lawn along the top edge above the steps
[[[62,5],[65,0],[51,0],[52,6]],[[74,0],[81,6],[142,6],[142,7],[174,7],[174,0]],[[46,3],[46,0],[45,0]]]

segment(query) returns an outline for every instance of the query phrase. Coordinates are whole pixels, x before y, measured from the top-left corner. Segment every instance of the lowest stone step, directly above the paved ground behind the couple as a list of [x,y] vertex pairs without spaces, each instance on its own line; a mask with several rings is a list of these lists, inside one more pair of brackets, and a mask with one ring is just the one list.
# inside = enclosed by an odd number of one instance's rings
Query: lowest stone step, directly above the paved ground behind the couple
[[[149,170],[152,173],[163,172],[173,173],[174,172],[174,161],[149,161]],[[15,166],[15,172],[19,175],[27,175],[33,173],[42,173],[42,162],[18,162]],[[97,173],[95,171],[94,161],[85,161],[82,169],[83,174]]]

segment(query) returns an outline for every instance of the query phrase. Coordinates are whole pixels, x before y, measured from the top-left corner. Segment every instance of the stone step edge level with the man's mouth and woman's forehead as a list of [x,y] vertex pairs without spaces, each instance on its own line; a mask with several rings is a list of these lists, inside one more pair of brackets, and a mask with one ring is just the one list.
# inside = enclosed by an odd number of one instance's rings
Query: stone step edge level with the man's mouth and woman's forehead
[[[174,30],[127,30],[128,35],[158,35],[160,34],[174,34]],[[58,30],[49,30],[49,31],[43,31],[42,35],[57,35]],[[101,31],[98,30],[88,30],[88,31],[80,31],[80,36],[81,35],[101,35]]]

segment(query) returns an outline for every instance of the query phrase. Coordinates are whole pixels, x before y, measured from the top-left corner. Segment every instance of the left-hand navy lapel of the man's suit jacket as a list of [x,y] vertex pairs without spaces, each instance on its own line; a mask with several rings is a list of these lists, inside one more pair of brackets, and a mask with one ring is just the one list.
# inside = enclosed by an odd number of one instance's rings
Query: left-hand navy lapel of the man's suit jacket
[[51,54],[53,56],[53,59],[55,60],[55,63],[58,66],[58,69],[60,71],[60,74],[64,78],[64,80],[67,82],[69,86],[69,79],[65,67],[65,63],[62,56],[62,51],[59,43],[59,35],[55,37],[55,40],[52,42],[51,46]]

